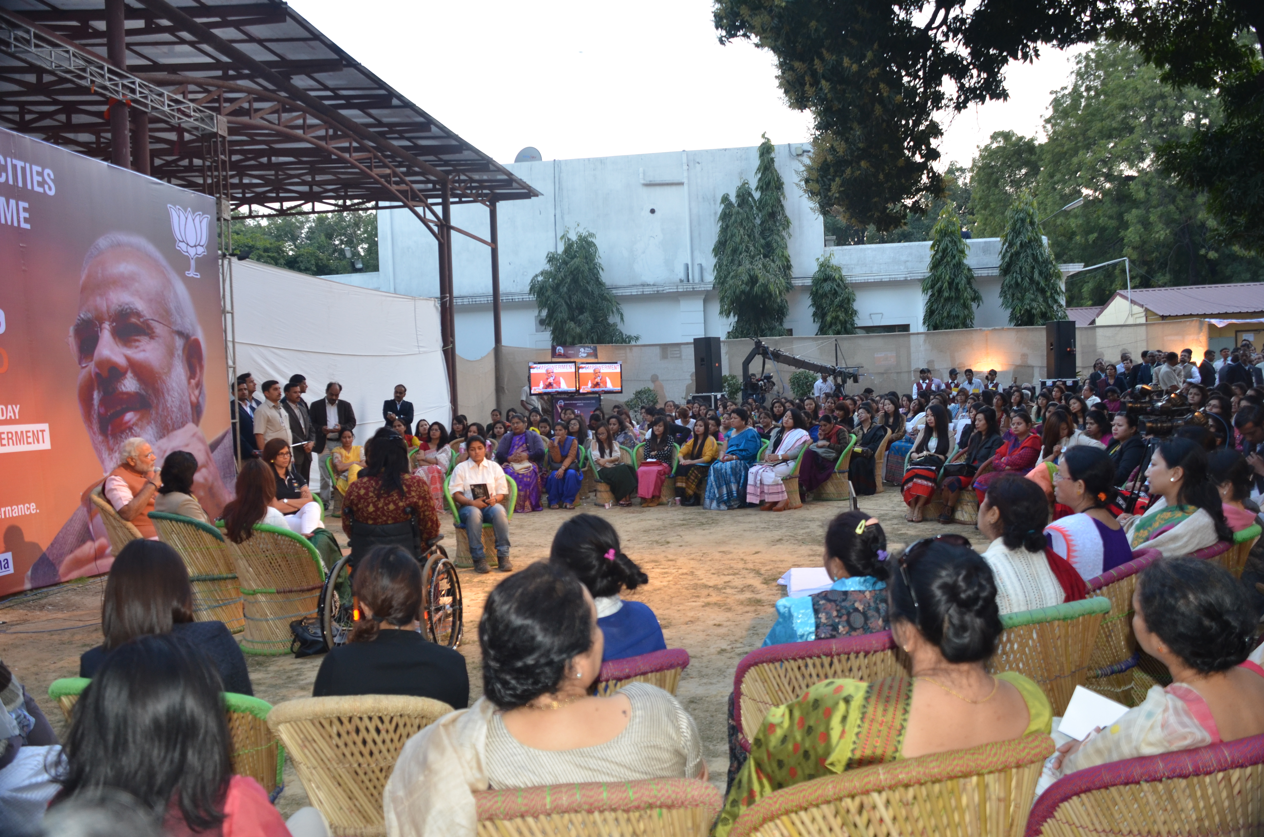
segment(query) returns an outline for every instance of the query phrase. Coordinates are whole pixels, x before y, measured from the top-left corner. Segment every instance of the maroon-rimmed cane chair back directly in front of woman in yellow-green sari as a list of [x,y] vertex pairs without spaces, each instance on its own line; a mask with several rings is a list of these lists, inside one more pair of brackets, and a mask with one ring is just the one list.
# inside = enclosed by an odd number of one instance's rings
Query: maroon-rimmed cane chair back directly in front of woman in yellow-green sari
[[908,661],[890,631],[756,649],[733,673],[738,741],[750,751],[751,738],[769,709],[798,699],[822,680],[872,683],[895,674],[908,674]]

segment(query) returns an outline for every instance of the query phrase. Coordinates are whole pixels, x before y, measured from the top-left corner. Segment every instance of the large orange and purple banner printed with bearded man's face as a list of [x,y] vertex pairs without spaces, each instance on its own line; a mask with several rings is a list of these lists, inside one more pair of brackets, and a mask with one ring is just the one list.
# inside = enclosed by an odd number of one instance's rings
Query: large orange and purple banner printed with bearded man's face
[[219,515],[226,382],[212,199],[0,130],[0,594],[110,568],[88,493],[133,436]]

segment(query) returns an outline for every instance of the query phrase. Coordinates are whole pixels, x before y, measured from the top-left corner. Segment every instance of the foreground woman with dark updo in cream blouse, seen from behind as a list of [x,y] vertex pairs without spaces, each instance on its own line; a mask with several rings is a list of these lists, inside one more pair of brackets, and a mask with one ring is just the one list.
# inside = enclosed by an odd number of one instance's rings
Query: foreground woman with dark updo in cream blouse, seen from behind
[[391,837],[475,837],[487,789],[707,779],[694,719],[657,687],[589,688],[604,641],[588,589],[537,563],[501,582],[479,622],[483,690],[404,745],[383,793]]

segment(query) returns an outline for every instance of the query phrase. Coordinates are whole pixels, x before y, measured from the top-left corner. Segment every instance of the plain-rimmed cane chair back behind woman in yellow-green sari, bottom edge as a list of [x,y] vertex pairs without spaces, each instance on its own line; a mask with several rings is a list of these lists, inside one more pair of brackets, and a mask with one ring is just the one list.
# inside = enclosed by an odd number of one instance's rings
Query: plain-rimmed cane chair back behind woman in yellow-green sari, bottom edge
[[1047,735],[848,770],[775,790],[731,837],[1020,837]]

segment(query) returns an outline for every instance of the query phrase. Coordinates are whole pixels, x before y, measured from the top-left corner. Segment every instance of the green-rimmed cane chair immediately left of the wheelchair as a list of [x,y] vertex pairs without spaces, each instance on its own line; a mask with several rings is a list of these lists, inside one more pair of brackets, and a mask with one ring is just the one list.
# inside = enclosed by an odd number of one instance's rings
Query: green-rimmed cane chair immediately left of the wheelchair
[[289,654],[289,623],[316,616],[325,583],[320,554],[302,535],[267,523],[255,523],[243,542],[229,542],[229,551],[241,584],[241,651]]

